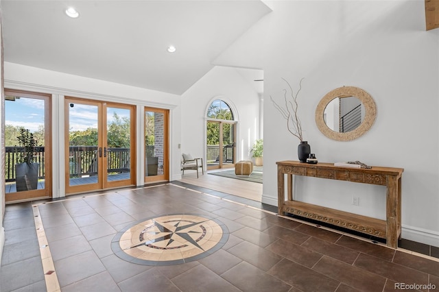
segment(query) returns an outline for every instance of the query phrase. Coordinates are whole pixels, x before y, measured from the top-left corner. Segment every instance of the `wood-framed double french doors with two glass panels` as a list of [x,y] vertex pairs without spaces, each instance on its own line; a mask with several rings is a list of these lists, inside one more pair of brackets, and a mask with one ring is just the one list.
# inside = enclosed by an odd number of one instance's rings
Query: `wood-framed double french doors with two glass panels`
[[66,194],[135,184],[135,108],[66,97]]

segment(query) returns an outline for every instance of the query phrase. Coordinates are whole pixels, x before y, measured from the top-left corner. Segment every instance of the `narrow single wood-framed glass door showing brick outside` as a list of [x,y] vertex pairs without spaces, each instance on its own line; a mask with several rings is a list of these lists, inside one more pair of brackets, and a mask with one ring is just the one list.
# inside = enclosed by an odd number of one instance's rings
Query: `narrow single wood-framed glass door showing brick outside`
[[145,182],[169,180],[168,112],[145,108]]

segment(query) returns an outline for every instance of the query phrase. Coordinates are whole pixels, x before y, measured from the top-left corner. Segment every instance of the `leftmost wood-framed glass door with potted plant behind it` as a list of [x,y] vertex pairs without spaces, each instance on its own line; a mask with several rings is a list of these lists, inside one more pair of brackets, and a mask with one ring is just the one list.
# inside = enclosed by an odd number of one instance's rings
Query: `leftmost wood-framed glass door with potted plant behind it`
[[5,89],[5,202],[50,197],[50,95]]

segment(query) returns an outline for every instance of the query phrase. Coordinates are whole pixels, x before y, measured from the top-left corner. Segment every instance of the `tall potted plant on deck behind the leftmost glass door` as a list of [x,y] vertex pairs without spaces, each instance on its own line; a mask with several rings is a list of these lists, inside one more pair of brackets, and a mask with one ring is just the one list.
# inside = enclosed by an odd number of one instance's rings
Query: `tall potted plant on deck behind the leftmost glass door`
[[17,153],[15,165],[16,191],[36,190],[38,186],[39,163],[34,162],[34,153],[37,141],[34,134],[29,130],[21,128],[19,136],[19,151]]

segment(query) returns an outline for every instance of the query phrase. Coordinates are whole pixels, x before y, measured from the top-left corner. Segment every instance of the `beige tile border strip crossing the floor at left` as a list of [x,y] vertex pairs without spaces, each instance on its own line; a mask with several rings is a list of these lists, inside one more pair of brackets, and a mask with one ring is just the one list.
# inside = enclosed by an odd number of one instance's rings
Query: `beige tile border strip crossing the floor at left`
[[58,276],[56,276],[54,260],[51,256],[46,232],[43,227],[43,221],[41,220],[38,204],[32,205],[32,211],[34,212],[36,235],[38,237],[38,245],[40,247],[40,256],[41,262],[43,263],[43,273],[46,282],[47,292],[61,291],[60,283],[58,282]]

